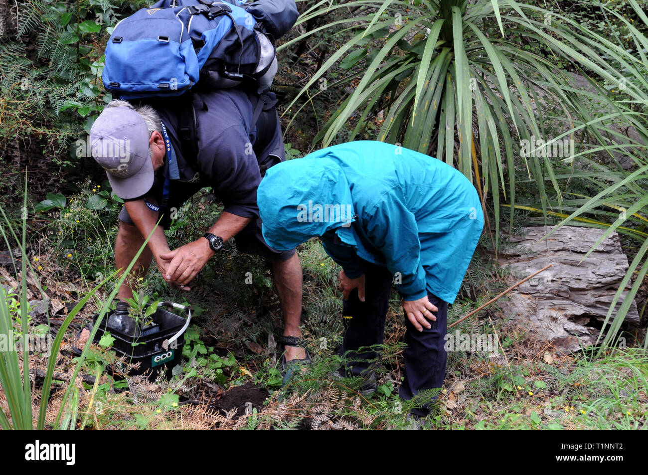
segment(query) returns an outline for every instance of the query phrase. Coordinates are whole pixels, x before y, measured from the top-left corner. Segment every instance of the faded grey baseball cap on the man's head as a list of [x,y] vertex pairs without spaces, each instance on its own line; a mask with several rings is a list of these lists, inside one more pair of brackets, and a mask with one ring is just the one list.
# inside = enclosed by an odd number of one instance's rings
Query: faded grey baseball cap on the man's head
[[119,198],[129,200],[153,185],[148,128],[139,113],[128,107],[107,107],[90,130],[92,156],[101,165]]

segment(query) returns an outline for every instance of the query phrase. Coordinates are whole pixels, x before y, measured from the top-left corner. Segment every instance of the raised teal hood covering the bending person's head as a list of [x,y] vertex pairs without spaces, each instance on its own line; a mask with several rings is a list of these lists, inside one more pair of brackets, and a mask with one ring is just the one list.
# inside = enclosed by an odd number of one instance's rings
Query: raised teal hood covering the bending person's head
[[294,159],[270,168],[257,190],[257,204],[263,238],[277,250],[293,249],[330,229],[353,235],[348,232],[355,215],[349,182],[327,158]]

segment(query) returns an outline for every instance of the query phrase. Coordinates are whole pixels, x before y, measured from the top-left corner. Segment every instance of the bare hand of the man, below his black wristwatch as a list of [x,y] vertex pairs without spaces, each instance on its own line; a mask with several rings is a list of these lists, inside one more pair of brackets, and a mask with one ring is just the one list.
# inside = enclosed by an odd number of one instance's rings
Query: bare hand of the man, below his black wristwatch
[[213,255],[214,251],[209,248],[209,241],[205,238],[185,244],[168,253],[160,254],[160,259],[170,261],[163,276],[168,283],[178,284],[181,288],[185,287],[196,277],[196,274],[202,270]]

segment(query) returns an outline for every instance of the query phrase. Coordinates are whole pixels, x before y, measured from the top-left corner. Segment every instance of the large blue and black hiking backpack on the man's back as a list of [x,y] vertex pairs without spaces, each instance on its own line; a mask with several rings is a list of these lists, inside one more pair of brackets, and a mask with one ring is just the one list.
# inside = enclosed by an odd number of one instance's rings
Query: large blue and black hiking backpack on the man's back
[[[160,0],[122,19],[106,45],[104,87],[122,99],[181,95],[199,80],[268,89],[274,38],[290,30],[294,0]],[[244,8],[247,7],[247,8]]]

